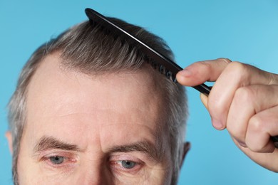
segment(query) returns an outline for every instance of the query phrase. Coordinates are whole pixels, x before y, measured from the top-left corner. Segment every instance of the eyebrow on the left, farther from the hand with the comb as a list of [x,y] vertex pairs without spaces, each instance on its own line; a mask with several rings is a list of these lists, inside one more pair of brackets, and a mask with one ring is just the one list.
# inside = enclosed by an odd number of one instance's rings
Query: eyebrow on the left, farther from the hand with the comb
[[45,151],[47,149],[63,149],[63,150],[71,150],[71,151],[80,151],[80,149],[76,144],[68,144],[54,137],[43,136],[41,137],[41,139],[38,140],[37,144],[35,145],[34,153]]

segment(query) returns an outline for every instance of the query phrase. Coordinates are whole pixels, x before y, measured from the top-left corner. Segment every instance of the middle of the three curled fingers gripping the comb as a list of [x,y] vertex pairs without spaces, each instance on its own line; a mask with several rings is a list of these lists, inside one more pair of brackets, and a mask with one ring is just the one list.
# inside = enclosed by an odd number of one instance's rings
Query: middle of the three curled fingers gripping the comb
[[227,116],[227,130],[242,146],[249,120],[257,113],[277,106],[277,92],[278,85],[249,85],[236,90]]

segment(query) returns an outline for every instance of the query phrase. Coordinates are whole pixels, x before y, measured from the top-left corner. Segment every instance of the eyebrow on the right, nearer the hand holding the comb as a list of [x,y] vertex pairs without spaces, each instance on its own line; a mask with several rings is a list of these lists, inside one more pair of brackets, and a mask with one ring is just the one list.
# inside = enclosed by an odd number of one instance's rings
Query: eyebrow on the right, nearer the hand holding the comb
[[143,152],[156,162],[159,162],[161,160],[161,152],[159,152],[157,147],[155,147],[155,144],[148,141],[135,142],[133,144],[111,147],[108,152]]

